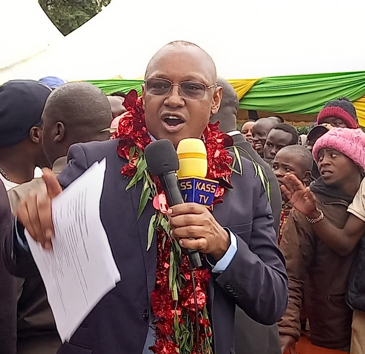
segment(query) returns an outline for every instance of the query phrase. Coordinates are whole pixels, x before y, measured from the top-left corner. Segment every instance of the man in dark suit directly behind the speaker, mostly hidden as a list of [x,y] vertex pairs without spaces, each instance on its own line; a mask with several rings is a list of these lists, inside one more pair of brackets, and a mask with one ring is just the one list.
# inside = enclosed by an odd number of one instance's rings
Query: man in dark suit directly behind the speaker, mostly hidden
[[[241,157],[252,158],[264,170],[271,186],[271,206],[273,209],[274,227],[277,232],[280,221],[281,193],[279,184],[274,172],[265,161],[252,149],[249,142],[237,130],[238,97],[231,84],[218,78],[218,84],[223,88],[222,100],[217,114],[214,114],[210,121],[219,121],[219,128],[232,136],[235,146],[241,147]],[[244,311],[236,306],[235,317],[235,343],[237,354],[281,354],[279,332],[277,324],[264,326],[248,317]]]

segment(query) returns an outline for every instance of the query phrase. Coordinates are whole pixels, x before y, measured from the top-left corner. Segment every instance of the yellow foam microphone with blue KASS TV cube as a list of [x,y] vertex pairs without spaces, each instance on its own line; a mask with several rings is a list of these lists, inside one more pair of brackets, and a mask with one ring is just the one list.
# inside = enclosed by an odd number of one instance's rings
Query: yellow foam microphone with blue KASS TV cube
[[177,174],[184,202],[212,205],[219,183],[205,178],[208,162],[204,143],[201,139],[183,139],[177,154],[180,163]]

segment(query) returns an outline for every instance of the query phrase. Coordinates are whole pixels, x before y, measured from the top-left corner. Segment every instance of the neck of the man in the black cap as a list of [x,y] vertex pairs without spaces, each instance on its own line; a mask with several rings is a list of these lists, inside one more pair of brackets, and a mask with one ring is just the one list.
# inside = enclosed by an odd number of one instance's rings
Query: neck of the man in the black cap
[[12,182],[21,184],[33,179],[36,163],[34,158],[26,156],[24,152],[1,149],[0,168]]

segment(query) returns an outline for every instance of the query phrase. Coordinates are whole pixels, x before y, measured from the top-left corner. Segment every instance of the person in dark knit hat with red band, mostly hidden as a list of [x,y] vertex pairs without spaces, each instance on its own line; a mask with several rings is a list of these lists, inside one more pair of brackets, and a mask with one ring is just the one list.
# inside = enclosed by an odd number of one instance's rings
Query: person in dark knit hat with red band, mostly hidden
[[341,97],[327,102],[317,116],[317,124],[329,123],[337,128],[358,128],[356,110],[352,102]]

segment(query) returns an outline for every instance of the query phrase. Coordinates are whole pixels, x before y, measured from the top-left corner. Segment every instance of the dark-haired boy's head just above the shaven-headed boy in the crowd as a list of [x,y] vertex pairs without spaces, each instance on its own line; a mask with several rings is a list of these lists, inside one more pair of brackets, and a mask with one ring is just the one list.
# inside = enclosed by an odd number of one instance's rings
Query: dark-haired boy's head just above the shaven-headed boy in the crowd
[[292,125],[279,123],[273,127],[266,138],[264,157],[273,163],[277,152],[288,146],[298,144],[299,135]]

